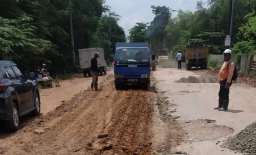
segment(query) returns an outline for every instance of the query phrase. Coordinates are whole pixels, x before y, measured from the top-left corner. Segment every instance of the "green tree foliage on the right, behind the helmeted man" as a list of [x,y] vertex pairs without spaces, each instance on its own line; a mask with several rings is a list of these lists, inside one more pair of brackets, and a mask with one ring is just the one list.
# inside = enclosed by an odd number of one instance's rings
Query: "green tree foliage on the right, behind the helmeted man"
[[[199,1],[195,12],[179,10],[177,17],[171,17],[165,28],[166,42],[173,53],[183,52],[186,45],[208,46],[210,53],[220,54],[225,50],[225,37],[229,34],[228,0]],[[255,46],[256,1],[235,1],[232,24],[232,44],[235,52],[248,53]],[[171,41],[170,41],[171,40]]]

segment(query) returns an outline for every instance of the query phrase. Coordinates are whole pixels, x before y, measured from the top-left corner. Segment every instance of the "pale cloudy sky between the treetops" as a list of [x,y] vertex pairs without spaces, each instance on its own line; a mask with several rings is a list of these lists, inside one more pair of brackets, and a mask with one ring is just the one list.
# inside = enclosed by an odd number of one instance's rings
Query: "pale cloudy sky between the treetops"
[[[111,12],[119,14],[118,24],[125,29],[126,36],[129,36],[129,29],[136,23],[150,23],[155,15],[152,13],[151,5],[167,6],[173,10],[196,10],[198,0],[107,0],[106,5],[111,6]],[[207,0],[203,0],[207,2]],[[174,12],[177,16],[177,12]]]

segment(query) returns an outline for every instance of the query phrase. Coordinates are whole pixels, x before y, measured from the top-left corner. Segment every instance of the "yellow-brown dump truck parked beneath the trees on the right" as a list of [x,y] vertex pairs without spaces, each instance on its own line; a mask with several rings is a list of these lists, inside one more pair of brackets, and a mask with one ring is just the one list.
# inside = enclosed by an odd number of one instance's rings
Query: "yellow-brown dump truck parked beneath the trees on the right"
[[207,69],[208,56],[208,47],[204,47],[203,45],[186,46],[186,70],[191,70],[192,67]]

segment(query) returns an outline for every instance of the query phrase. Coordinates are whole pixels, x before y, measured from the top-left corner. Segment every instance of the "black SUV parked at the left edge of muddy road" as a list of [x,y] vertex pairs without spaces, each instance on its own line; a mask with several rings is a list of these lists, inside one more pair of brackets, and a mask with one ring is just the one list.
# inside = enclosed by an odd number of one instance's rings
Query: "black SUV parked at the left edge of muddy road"
[[36,82],[12,61],[0,61],[0,120],[9,131],[17,131],[20,116],[40,115],[40,96]]

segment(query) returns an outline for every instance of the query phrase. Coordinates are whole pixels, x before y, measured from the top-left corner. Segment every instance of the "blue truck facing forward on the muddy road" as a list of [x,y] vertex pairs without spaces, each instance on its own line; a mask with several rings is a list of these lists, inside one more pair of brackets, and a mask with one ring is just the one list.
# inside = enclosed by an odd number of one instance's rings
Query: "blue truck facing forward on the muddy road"
[[137,84],[148,88],[151,58],[148,43],[116,43],[114,75],[115,87]]

